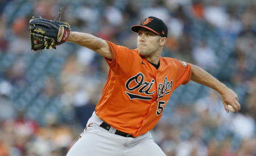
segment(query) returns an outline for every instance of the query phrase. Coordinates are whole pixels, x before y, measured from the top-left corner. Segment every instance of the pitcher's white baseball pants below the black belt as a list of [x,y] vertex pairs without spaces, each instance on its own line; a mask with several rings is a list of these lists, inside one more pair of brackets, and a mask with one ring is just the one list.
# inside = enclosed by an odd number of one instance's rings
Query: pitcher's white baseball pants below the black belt
[[81,138],[71,147],[67,156],[161,156],[165,155],[154,142],[151,133],[138,137],[123,137],[100,127],[102,120],[93,112]]

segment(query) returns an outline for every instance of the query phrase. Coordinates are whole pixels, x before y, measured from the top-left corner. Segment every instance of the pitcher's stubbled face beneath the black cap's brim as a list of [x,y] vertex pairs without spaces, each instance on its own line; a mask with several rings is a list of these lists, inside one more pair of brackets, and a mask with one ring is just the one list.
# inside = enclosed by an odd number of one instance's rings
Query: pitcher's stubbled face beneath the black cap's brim
[[138,31],[138,52],[142,56],[154,55],[159,50],[160,46],[159,35],[147,29],[140,29]]

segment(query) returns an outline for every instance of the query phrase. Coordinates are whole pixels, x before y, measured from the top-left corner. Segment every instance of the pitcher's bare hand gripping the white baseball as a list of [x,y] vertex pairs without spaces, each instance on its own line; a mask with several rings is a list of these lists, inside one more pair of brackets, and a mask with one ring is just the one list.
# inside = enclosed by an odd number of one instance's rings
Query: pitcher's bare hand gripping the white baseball
[[223,89],[223,91],[221,93],[221,97],[222,97],[222,102],[223,102],[224,108],[227,111],[227,113],[229,112],[228,104],[233,106],[233,108],[235,109],[236,112],[238,112],[241,109],[241,105],[239,104],[237,94],[234,91],[232,91],[231,89],[229,89],[228,87]]

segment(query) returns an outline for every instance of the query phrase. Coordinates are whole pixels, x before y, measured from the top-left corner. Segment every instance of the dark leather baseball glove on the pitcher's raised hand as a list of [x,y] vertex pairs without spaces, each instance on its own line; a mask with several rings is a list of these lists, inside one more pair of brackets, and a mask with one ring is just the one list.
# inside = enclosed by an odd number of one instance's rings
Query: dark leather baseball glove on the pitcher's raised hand
[[[65,43],[69,34],[70,26],[67,22],[60,22],[60,13],[52,20],[32,19],[29,21],[30,46],[32,51],[55,48]],[[57,21],[59,20],[59,21]]]

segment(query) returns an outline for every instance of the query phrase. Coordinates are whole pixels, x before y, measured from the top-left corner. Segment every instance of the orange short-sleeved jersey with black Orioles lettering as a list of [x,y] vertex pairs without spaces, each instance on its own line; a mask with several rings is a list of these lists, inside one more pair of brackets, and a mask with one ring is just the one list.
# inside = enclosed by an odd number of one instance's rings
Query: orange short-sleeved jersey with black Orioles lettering
[[112,127],[134,137],[155,127],[172,92],[191,78],[191,67],[183,61],[160,58],[156,69],[138,49],[107,42],[113,58],[95,112]]

